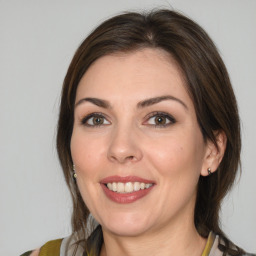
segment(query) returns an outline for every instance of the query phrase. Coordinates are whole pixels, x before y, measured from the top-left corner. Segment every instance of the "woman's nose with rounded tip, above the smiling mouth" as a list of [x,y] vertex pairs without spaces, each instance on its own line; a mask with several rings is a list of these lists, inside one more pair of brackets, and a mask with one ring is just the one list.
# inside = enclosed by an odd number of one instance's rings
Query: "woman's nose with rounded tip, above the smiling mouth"
[[117,128],[113,131],[108,147],[108,159],[111,162],[127,163],[142,159],[139,136],[134,129]]

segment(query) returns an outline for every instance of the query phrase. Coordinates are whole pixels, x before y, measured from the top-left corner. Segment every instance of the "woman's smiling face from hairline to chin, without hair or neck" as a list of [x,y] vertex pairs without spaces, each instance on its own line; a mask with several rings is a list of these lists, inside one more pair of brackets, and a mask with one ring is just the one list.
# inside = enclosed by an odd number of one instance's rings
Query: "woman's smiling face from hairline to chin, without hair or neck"
[[193,223],[208,147],[170,56],[104,56],[81,79],[75,102],[77,185],[103,230],[134,236]]

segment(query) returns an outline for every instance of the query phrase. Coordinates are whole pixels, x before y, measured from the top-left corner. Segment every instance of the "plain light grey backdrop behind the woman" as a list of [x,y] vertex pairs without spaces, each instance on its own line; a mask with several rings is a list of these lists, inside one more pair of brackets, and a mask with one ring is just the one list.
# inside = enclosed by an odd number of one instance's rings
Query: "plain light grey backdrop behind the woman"
[[201,24],[230,72],[242,121],[243,174],[224,231],[256,252],[256,1],[0,0],[0,255],[70,233],[71,202],[55,150],[62,81],[84,37],[124,10],[173,7]]

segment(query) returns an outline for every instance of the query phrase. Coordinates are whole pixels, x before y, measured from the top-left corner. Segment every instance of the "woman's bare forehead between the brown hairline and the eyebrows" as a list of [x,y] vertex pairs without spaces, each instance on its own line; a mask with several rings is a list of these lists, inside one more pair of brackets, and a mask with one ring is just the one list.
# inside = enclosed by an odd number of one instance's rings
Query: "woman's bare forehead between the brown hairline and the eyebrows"
[[78,85],[77,100],[97,96],[131,101],[165,94],[191,101],[183,74],[170,54],[146,48],[96,60]]

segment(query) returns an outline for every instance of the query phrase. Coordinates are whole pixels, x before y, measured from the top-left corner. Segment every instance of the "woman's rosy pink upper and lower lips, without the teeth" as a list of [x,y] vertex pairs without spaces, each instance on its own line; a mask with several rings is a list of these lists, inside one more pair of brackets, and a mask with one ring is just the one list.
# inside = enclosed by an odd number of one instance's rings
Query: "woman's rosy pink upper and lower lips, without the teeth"
[[[117,193],[114,191],[111,191],[107,188],[107,183],[112,182],[143,182],[143,183],[152,183],[153,186],[147,189],[141,189],[139,191],[134,191],[131,193]],[[105,193],[105,195],[112,201],[119,203],[119,204],[129,204],[133,203],[142,197],[146,196],[150,191],[154,188],[155,182],[151,180],[142,179],[140,177],[136,176],[126,176],[126,177],[120,177],[120,176],[110,176],[107,178],[104,178],[101,180],[100,185]]]

